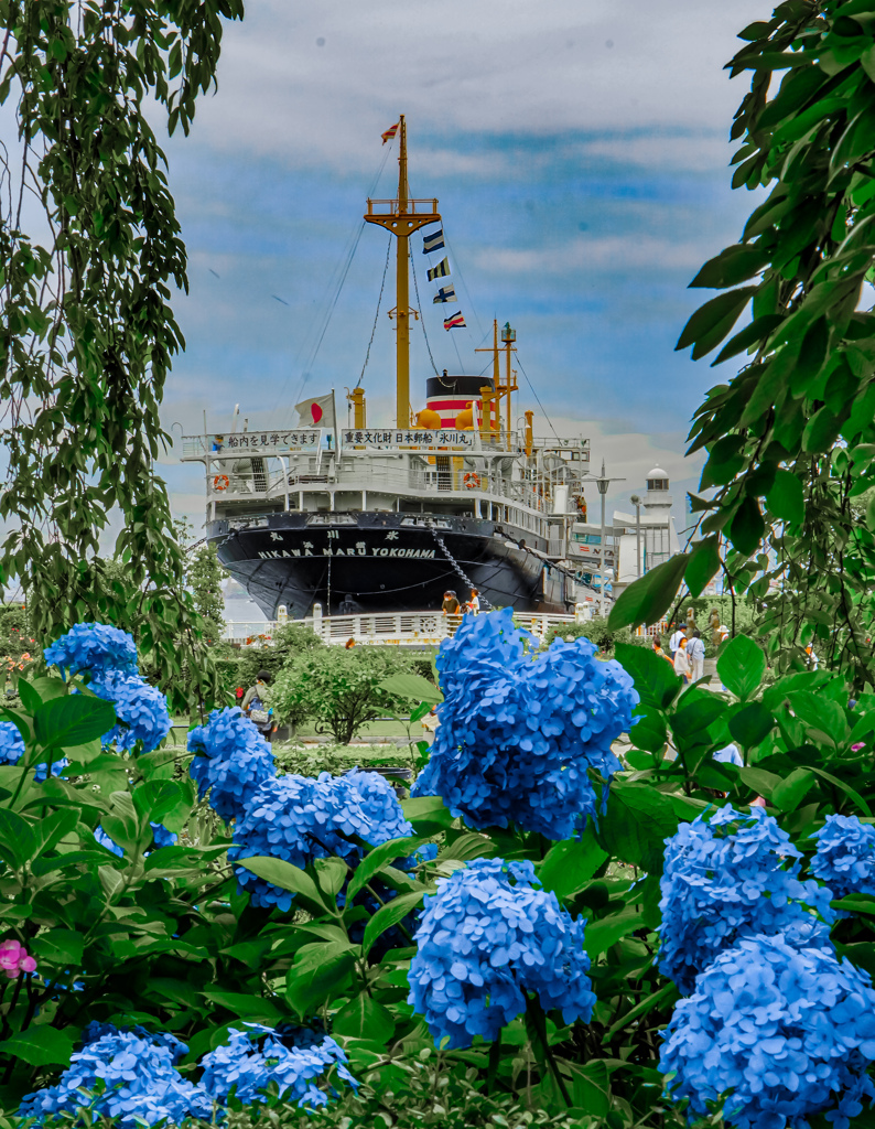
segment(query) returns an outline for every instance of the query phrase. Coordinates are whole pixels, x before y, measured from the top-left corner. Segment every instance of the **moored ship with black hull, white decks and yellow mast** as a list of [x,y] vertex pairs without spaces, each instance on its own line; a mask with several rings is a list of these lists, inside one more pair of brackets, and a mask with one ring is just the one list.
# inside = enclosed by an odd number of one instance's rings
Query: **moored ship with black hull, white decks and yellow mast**
[[586,511],[589,440],[539,439],[532,411],[515,419],[515,330],[493,322],[491,376],[435,370],[411,411],[410,242],[432,228],[440,245],[443,222],[437,199],[410,194],[403,116],[396,129],[397,194],[368,199],[364,217],[396,243],[395,418],[368,423],[359,384],[345,428],[332,394],[332,410],[314,401],[303,426],[237,430],[235,412],[229,431],[183,436],[183,461],[204,467],[205,540],[269,620],[316,605],[434,611],[472,589],[483,609],[571,613],[585,587],[569,540]]

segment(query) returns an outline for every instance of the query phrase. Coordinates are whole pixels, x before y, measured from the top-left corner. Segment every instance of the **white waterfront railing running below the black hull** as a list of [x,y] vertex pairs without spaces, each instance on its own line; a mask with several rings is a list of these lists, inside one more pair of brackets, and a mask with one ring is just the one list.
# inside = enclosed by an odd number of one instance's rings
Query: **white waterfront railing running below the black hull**
[[[543,641],[551,628],[589,619],[589,604],[578,604],[574,615],[552,612],[517,612],[514,621]],[[462,615],[444,615],[439,611],[373,612],[353,615],[309,615],[304,620],[270,621],[228,620],[224,638],[240,647],[272,647],[278,628],[285,623],[308,627],[323,642],[333,646],[434,647],[454,634]]]

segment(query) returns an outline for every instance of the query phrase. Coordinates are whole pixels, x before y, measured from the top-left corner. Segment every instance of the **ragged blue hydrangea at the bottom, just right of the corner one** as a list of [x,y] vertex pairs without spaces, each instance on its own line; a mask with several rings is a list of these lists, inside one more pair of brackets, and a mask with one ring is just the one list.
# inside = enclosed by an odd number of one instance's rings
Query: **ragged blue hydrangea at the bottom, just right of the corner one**
[[227,1101],[234,1091],[244,1105],[260,1103],[266,1097],[268,1086],[275,1083],[286,1102],[316,1109],[336,1096],[336,1089],[329,1084],[330,1071],[358,1089],[357,1079],[347,1068],[347,1056],[333,1039],[303,1047],[271,1027],[256,1023],[246,1026],[248,1031],[231,1027],[228,1043],[201,1059],[201,1086],[215,1101]]

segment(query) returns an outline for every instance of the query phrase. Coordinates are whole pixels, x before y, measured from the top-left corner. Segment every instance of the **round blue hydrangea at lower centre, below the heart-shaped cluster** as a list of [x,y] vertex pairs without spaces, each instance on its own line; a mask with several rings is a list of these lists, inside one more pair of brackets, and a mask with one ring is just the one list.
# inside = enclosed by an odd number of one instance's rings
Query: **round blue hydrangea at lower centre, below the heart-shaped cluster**
[[526,991],[545,1010],[561,1008],[567,1023],[588,1023],[585,925],[541,889],[531,863],[475,859],[426,895],[408,1003],[453,1048],[495,1039],[525,1009]]

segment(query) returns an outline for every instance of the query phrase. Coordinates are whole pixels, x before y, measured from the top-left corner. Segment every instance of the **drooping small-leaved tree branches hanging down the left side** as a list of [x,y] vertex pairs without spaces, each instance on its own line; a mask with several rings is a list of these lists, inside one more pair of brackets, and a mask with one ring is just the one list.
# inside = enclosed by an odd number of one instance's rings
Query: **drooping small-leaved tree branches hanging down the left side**
[[[77,620],[135,621],[177,704],[209,699],[215,673],[155,473],[184,344],[169,288],[186,287],[186,260],[143,104],[187,132],[216,80],[222,17],[242,16],[242,0],[0,0],[0,103],[18,123],[17,151],[0,159],[0,579],[20,580],[40,642]],[[23,227],[34,193],[42,243]],[[113,508],[124,594],[98,557]]]

